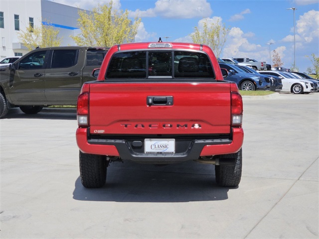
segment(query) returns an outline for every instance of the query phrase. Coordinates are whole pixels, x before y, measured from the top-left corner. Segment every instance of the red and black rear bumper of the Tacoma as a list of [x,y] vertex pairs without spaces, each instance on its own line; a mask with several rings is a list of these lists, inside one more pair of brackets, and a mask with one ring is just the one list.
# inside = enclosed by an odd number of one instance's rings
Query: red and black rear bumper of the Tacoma
[[231,135],[232,138],[195,139],[184,152],[166,154],[136,152],[125,139],[88,139],[88,128],[77,129],[76,141],[84,153],[119,156],[123,160],[144,163],[170,163],[238,152],[243,144],[244,131],[242,128],[232,128]]

